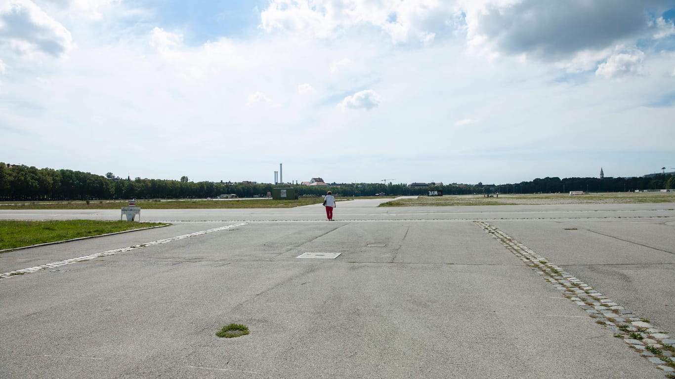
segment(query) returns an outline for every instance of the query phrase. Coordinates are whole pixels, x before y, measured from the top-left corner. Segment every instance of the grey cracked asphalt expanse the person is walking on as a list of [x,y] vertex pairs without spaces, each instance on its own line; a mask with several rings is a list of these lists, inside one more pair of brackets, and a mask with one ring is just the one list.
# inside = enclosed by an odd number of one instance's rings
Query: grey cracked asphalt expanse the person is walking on
[[[333,222],[320,205],[142,210],[172,225],[2,253],[0,273],[136,247],[0,279],[0,378],[664,378],[474,221],[672,336],[675,204],[379,201]],[[250,334],[215,336],[232,322]]]

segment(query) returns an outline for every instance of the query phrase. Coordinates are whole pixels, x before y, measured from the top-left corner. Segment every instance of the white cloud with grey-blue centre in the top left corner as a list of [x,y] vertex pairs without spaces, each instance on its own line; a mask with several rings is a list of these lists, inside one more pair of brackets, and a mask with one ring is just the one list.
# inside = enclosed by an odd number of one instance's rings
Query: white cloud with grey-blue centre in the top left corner
[[70,32],[30,0],[0,5],[0,53],[35,59],[63,57],[74,47]]

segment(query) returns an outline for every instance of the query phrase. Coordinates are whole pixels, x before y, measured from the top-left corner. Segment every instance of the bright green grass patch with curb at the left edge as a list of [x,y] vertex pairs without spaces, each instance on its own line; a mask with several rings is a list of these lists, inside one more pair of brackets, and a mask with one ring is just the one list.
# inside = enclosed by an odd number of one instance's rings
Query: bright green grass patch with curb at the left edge
[[0,221],[0,250],[166,225],[128,221]]

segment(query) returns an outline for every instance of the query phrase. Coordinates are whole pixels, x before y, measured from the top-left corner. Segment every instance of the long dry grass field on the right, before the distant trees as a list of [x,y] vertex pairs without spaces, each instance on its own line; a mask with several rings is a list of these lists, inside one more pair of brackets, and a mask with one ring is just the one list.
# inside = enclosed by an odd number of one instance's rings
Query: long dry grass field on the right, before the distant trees
[[[483,195],[418,196],[400,199],[380,206],[480,206],[480,205],[548,205],[548,204],[635,204],[675,202],[675,193],[610,192],[569,196],[568,194],[499,194],[499,198]],[[570,229],[574,230],[574,229]]]

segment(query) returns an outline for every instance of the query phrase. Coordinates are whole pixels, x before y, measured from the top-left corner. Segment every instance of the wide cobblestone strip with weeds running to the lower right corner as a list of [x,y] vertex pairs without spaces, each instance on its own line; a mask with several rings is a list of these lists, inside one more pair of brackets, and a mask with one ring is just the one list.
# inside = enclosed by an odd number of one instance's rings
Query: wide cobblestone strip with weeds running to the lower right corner
[[667,378],[675,378],[675,359],[672,359],[675,355],[675,338],[654,328],[648,320],[640,318],[612,299],[608,299],[590,285],[576,279],[555,264],[551,264],[545,257],[535,253],[493,225],[483,221],[475,221],[475,223],[493,235],[499,243],[535,270],[545,281],[562,292],[564,297],[574,301],[589,316],[595,318],[597,324],[612,330],[614,337],[623,339],[632,349],[664,370]]

